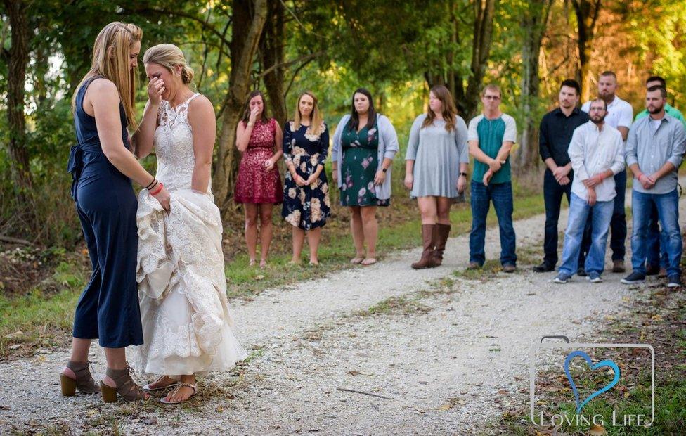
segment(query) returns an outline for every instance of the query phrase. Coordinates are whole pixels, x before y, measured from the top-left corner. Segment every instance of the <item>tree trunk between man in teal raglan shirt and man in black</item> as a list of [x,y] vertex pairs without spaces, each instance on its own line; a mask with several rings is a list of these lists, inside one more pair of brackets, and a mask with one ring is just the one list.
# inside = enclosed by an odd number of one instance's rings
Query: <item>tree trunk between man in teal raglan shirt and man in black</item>
[[522,174],[538,162],[538,56],[541,39],[548,24],[552,0],[531,0],[522,15],[524,46],[522,48],[522,113],[524,125],[519,148],[514,155],[514,168]]

